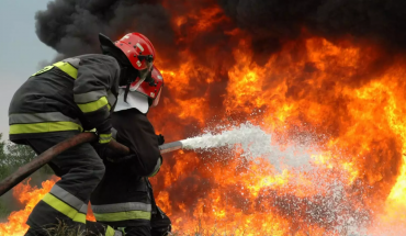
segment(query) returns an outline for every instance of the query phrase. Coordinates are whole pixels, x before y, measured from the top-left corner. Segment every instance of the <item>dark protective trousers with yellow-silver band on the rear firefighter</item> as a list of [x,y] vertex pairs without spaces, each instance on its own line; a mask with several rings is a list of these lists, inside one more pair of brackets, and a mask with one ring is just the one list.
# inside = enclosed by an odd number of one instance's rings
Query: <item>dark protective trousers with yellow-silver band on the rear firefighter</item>
[[[76,134],[60,132],[58,136],[26,139],[26,143],[40,155]],[[84,229],[90,194],[104,175],[102,160],[90,144],[82,144],[64,151],[48,165],[61,179],[33,209],[27,235],[47,235],[46,228],[60,222]]]

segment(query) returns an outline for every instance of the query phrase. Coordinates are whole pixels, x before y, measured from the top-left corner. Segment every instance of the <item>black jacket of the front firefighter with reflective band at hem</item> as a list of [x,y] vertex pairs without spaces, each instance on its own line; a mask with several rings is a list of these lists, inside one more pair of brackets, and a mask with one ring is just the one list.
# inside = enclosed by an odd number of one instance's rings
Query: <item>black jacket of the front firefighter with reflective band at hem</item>
[[156,175],[161,165],[157,135],[146,115],[136,109],[114,112],[112,124],[116,141],[129,147],[133,155],[125,162],[104,160],[105,175],[90,200],[93,214],[98,222],[113,227],[150,227],[151,212],[157,209],[148,177]]

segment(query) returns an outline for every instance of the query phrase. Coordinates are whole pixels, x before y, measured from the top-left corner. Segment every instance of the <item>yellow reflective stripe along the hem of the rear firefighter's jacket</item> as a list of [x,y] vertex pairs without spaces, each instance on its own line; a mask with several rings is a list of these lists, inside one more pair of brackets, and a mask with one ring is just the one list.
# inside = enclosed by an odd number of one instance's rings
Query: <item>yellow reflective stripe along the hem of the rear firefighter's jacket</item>
[[44,122],[32,124],[12,124],[10,125],[10,134],[34,134],[58,131],[82,131],[83,128],[74,122]]

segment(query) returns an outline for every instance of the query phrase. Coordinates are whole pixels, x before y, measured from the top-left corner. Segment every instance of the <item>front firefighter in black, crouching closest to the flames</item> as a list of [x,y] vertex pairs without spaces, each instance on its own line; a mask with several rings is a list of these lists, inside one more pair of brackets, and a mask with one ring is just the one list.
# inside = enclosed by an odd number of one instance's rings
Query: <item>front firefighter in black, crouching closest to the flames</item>
[[120,90],[112,114],[114,136],[132,154],[120,162],[112,162],[109,153],[101,154],[105,175],[91,195],[91,207],[99,223],[124,228],[126,236],[163,236],[171,229],[169,217],[155,204],[148,181],[162,164],[159,145],[163,136],[156,135],[147,119],[149,108],[159,102],[162,86],[163,78],[154,68],[151,77],[131,85],[127,98]]

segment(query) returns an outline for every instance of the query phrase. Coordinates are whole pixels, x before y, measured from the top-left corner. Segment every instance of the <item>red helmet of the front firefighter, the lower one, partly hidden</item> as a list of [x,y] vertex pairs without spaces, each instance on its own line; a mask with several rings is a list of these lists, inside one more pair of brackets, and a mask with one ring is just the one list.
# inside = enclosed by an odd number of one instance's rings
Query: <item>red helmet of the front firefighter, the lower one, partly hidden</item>
[[160,93],[163,88],[163,77],[156,66],[153,68],[150,78],[142,80],[136,78],[129,86],[129,91],[137,91],[149,99],[154,100],[151,106],[156,106],[159,103]]

